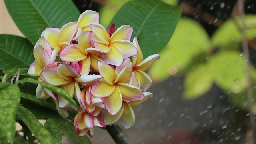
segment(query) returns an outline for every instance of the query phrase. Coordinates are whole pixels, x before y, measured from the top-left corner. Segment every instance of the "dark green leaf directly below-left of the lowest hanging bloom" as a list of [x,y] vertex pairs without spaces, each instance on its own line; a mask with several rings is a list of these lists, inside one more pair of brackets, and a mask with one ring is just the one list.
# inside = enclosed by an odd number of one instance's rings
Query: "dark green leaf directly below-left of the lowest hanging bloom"
[[47,121],[54,125],[55,128],[57,128],[75,144],[91,144],[90,139],[87,136],[79,137],[76,134],[76,130],[72,122],[69,122],[63,118],[52,118],[48,119]]

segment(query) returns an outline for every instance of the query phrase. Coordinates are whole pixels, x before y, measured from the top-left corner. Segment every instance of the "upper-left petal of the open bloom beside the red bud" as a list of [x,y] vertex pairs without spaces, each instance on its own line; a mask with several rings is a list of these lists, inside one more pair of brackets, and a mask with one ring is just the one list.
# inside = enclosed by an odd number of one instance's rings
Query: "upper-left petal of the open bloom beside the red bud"
[[94,36],[96,36],[98,38],[98,40],[100,40],[100,43],[106,44],[107,46],[109,45],[108,41],[110,39],[110,36],[102,25],[100,25],[100,24],[91,24],[90,28],[91,28]]

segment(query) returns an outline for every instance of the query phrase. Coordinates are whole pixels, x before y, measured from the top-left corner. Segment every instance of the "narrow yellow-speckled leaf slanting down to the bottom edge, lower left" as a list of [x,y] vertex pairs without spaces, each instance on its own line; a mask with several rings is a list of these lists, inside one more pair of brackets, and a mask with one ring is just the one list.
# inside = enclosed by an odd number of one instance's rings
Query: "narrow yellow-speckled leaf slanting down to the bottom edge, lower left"
[[36,117],[23,106],[19,106],[17,111],[18,117],[28,126],[32,134],[36,136],[41,144],[53,144],[52,136]]

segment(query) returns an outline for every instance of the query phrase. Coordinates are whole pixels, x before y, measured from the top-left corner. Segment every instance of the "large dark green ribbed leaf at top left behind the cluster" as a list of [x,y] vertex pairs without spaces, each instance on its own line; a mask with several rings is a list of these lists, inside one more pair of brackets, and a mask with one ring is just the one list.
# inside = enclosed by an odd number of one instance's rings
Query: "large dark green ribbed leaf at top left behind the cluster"
[[78,20],[80,12],[71,0],[4,0],[20,31],[36,44],[46,27],[61,28]]

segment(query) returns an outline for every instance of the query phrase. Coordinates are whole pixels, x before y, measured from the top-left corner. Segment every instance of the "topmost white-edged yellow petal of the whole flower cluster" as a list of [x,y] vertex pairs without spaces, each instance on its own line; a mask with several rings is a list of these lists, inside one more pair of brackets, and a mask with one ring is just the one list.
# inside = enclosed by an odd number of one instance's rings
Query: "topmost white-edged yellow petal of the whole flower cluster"
[[91,22],[99,22],[99,13],[92,10],[86,10],[78,18],[78,28],[82,28],[84,25]]

